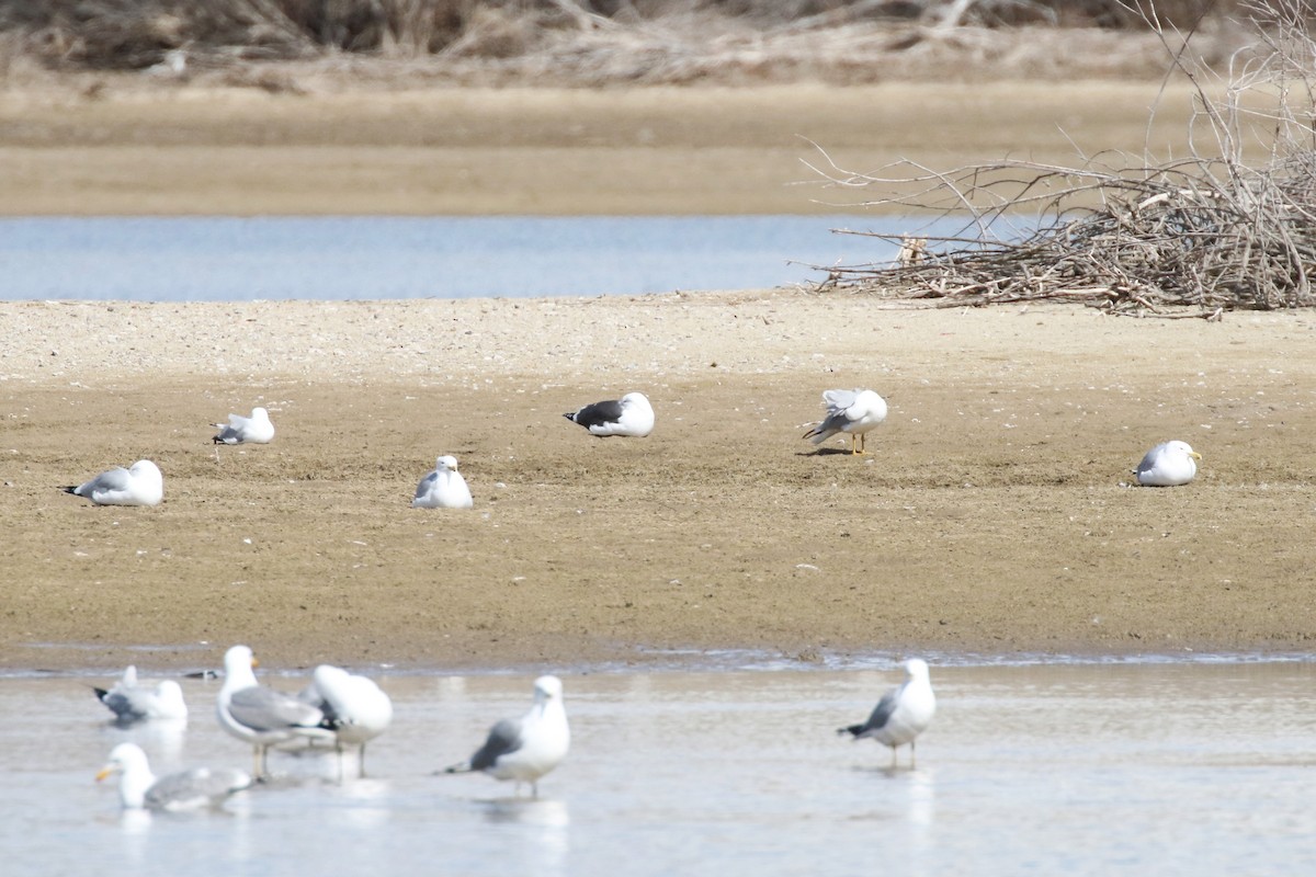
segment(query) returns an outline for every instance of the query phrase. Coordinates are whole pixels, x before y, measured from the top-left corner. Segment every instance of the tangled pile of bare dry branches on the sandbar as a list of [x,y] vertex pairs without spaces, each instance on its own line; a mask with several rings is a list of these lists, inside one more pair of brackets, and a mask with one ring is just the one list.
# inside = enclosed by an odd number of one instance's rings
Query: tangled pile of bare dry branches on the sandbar
[[1055,300],[1208,318],[1316,305],[1316,42],[1302,0],[1257,9],[1267,16],[1253,20],[1262,39],[1223,84],[1208,88],[1209,71],[1177,57],[1198,87],[1191,125],[1209,131],[1209,156],[1190,137],[1187,159],[1119,170],[903,163],[870,176],[824,166],[837,185],[898,192],[869,205],[970,218],[954,237],[888,238],[900,247],[895,260],[826,268],[820,288],[946,306]]

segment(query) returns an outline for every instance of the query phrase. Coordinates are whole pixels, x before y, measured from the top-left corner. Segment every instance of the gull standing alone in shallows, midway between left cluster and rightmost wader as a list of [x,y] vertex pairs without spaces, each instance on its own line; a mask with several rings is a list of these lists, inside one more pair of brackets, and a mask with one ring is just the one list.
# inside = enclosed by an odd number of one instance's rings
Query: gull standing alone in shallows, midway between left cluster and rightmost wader
[[515,780],[515,794],[521,784],[530,784],[530,793],[540,797],[538,781],[567,757],[571,730],[562,707],[562,680],[541,676],[534,680],[534,706],[520,719],[503,719],[490,730],[488,739],[468,761],[445,768],[445,773],[483,770],[495,780]]

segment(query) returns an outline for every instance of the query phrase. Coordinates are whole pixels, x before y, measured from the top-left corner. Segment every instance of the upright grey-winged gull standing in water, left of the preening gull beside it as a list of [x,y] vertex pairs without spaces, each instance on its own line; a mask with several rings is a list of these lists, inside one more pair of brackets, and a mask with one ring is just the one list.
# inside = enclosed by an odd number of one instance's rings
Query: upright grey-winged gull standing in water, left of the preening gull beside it
[[292,694],[276,692],[255,681],[257,665],[251,650],[234,646],[224,655],[224,685],[216,698],[220,726],[253,747],[254,773],[267,776],[266,756],[271,746],[290,740],[332,740],[324,726],[324,711]]

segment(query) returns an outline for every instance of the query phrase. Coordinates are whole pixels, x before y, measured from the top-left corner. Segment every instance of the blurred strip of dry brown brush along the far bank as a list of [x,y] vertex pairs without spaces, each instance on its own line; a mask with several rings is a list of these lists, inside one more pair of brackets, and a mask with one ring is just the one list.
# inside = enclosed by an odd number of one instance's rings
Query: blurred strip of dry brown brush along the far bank
[[[1157,8],[1178,24],[1203,3]],[[1208,5],[1228,41],[1234,4]],[[1115,0],[14,0],[0,5],[0,71],[21,55],[57,71],[240,84],[270,80],[253,66],[351,58],[462,82],[582,85],[1140,75],[1155,45]]]

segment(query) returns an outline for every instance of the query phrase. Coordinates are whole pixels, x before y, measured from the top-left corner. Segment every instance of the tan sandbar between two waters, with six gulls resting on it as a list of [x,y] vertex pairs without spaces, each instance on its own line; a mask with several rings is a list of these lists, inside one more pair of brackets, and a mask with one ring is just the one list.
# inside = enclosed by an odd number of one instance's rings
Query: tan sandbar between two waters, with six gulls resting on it
[[[1309,314],[775,291],[0,304],[0,665],[1309,651]],[[800,435],[874,387],[869,459]],[[641,389],[642,440],[565,421]],[[266,405],[274,444],[209,444]],[[1196,483],[1121,486],[1183,438]],[[476,509],[408,508],[454,454]],[[150,456],[155,509],[61,493]],[[149,652],[138,648],[147,646]]]

